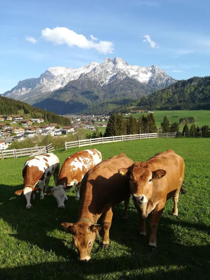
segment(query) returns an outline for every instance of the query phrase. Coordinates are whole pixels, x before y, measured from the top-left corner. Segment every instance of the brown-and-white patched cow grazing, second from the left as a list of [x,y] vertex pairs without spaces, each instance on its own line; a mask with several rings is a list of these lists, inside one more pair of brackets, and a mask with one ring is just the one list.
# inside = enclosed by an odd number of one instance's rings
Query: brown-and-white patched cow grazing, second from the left
[[96,150],[84,150],[69,156],[63,163],[56,185],[46,191],[53,194],[58,203],[58,208],[64,208],[64,200],[67,200],[66,190],[75,184],[76,200],[79,199],[79,185],[85,173],[101,162],[101,153]]

